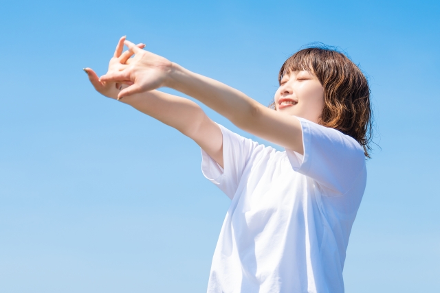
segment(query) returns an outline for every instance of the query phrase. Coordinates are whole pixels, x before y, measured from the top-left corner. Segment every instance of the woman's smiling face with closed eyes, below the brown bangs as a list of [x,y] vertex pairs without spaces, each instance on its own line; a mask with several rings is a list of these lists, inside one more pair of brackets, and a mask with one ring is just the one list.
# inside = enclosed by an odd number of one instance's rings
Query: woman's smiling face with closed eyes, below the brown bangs
[[324,89],[309,71],[285,74],[275,93],[276,110],[318,123],[324,108]]

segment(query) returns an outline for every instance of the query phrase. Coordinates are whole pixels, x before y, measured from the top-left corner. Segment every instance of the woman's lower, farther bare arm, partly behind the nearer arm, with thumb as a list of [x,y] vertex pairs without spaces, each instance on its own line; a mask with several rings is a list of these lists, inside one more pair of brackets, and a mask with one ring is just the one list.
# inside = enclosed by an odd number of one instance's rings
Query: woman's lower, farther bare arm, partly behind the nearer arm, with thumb
[[[100,82],[92,69],[85,69],[96,91],[116,99],[119,90],[115,83]],[[223,134],[219,126],[190,99],[161,91],[148,91],[120,100],[164,124],[176,128],[194,140],[214,161],[223,167]]]

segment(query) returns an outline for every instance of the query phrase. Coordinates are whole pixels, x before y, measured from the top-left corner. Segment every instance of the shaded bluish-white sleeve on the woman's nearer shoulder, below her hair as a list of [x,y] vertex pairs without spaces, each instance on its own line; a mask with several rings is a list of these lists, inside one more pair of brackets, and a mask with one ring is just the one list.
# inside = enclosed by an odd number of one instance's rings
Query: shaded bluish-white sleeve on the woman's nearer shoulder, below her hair
[[333,191],[345,194],[364,171],[361,145],[342,132],[298,117],[303,130],[304,155],[286,149],[293,169]]

